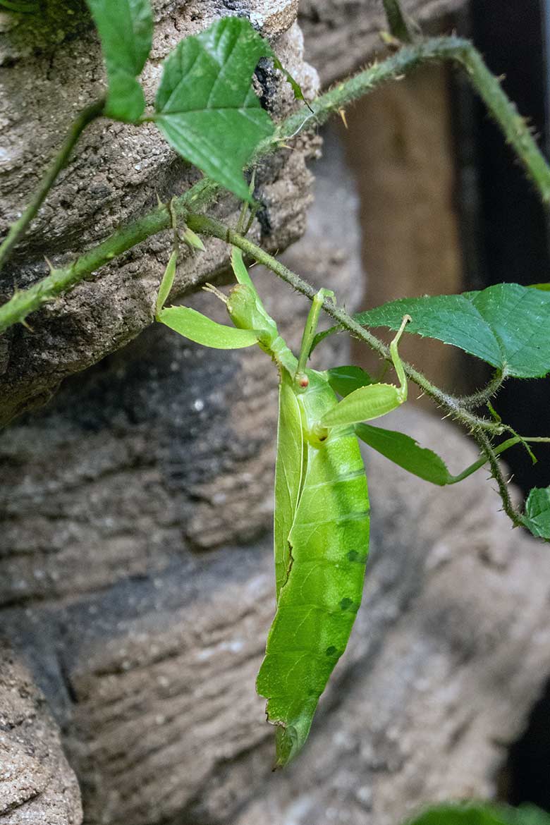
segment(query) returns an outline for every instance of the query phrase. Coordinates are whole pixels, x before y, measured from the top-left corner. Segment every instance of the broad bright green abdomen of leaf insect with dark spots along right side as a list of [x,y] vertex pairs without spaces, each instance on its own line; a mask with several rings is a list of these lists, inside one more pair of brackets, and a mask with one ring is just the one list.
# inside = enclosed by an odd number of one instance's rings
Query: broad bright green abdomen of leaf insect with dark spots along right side
[[[312,383],[318,406],[323,391]],[[327,385],[322,406],[331,403],[336,398]],[[258,692],[268,700],[268,719],[280,726],[278,765],[303,747],[319,696],[346,649],[369,547],[367,481],[353,430],[335,427],[327,441],[307,450],[289,533],[289,574],[257,679]]]

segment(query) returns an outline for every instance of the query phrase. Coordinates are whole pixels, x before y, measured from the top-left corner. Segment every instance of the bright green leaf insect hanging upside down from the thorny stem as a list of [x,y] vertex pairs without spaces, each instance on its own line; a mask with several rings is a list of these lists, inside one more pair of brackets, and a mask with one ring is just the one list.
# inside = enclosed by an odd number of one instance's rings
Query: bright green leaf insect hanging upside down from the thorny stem
[[[391,347],[400,386],[372,384],[366,373],[360,386],[355,373],[355,389],[338,401],[329,374],[305,367],[322,301],[332,294],[321,290],[313,300],[297,360],[261,304],[235,248],[232,261],[239,283],[228,299],[220,297],[234,328],[190,315],[186,307],[162,309],[157,318],[209,347],[257,342],[279,370],[277,609],[256,688],[267,699],[268,721],[277,728],[276,766],[284,766],[308,738],[317,702],[346,649],[360,607],[369,552],[369,495],[354,424],[388,413],[406,400],[397,341],[407,319]],[[239,340],[243,334],[249,337]]]

